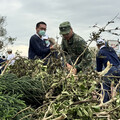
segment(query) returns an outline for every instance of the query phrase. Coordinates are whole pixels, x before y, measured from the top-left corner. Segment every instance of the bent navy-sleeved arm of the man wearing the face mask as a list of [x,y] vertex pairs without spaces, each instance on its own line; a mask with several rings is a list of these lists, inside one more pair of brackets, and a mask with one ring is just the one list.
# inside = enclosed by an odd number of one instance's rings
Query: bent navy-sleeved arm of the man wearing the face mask
[[34,51],[36,52],[37,55],[50,53],[50,48],[40,46],[40,44],[38,44],[38,41],[35,37],[31,37],[30,44],[31,44],[32,48],[34,49]]

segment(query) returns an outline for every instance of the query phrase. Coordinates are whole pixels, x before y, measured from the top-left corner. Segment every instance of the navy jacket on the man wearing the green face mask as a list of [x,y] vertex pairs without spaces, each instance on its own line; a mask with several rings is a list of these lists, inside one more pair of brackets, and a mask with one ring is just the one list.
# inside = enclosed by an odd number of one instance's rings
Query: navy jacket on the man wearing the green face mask
[[40,39],[36,34],[30,38],[28,58],[35,59],[45,58],[50,53],[50,47],[46,47],[45,41]]

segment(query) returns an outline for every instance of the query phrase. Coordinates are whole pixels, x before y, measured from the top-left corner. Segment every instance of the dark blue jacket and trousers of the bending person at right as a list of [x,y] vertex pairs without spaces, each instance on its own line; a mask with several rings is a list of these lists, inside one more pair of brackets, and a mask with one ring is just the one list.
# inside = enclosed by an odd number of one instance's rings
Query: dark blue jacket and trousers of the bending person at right
[[[103,68],[107,66],[107,62],[112,64],[112,68],[105,75],[114,75],[120,76],[120,60],[117,56],[115,50],[112,47],[106,47],[100,49],[98,55],[96,57],[97,71],[101,72]],[[105,89],[104,101],[107,102],[109,100],[109,94],[107,91],[110,91],[111,81],[110,78],[105,77],[103,81],[103,88]]]

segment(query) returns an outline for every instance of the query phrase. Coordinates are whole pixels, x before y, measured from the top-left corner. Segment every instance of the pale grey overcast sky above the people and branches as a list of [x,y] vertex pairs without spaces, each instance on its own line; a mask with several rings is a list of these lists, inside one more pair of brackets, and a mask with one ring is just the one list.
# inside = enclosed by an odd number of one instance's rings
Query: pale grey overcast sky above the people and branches
[[[59,35],[59,24],[70,21],[74,32],[88,40],[94,31],[90,26],[104,26],[118,13],[120,0],[0,0],[0,15],[7,17],[7,36],[17,37],[15,45],[26,47],[25,54],[39,21],[47,23],[47,34],[54,38]],[[115,26],[120,26],[119,19]]]

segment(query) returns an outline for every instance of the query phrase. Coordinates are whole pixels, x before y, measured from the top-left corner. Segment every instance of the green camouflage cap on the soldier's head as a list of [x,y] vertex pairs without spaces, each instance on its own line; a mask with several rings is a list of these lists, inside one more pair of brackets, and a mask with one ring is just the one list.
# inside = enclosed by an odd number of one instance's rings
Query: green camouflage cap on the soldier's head
[[70,22],[68,21],[61,23],[59,26],[60,34],[62,35],[68,34],[70,32],[70,29],[71,29],[71,25]]

